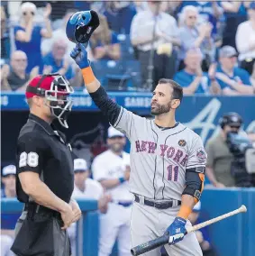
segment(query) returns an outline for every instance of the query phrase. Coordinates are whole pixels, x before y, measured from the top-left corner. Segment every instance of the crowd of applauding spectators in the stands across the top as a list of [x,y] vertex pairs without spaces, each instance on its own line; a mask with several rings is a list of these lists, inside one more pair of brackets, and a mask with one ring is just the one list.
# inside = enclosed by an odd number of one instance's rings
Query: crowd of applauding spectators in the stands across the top
[[150,91],[164,77],[186,95],[254,94],[255,2],[245,1],[2,1],[2,90],[23,91],[42,72],[83,90],[65,27],[88,9],[100,18],[89,59],[109,90],[131,80],[123,90]]

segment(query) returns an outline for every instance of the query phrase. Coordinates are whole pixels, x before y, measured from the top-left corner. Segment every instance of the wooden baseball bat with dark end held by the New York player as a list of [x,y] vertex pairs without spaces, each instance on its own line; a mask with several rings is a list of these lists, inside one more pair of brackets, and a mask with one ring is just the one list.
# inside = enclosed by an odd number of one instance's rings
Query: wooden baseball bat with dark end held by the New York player
[[[187,228],[187,233],[194,232],[194,231],[199,230],[202,227],[205,227],[209,224],[214,224],[214,223],[219,222],[219,221],[221,221],[225,218],[231,217],[232,215],[237,215],[237,214],[245,213],[245,212],[247,212],[247,208],[246,208],[246,206],[242,205],[240,208],[238,208],[238,209],[236,209],[232,212],[229,212],[229,213],[224,214],[224,215],[220,215],[220,216],[215,217],[211,220],[205,221],[204,223],[196,224],[195,226],[188,227]],[[185,234],[187,234],[187,233],[185,233]],[[153,249],[155,249],[159,246],[167,244],[168,241],[169,241],[169,235],[162,235],[159,238],[156,238],[154,240],[150,240],[149,242],[141,243],[140,245],[138,245],[136,247],[133,247],[131,249],[131,253],[132,253],[133,256],[137,256],[137,255],[140,255],[144,252],[151,251],[151,250],[153,250]]]

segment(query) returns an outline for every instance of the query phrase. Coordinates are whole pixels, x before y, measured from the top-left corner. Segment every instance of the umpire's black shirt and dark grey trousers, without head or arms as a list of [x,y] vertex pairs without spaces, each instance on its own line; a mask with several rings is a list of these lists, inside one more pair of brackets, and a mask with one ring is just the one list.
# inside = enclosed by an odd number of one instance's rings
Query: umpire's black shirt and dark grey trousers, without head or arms
[[73,157],[65,136],[30,114],[18,137],[16,161],[17,198],[25,204],[11,250],[21,256],[69,256],[68,233],[61,230],[61,215],[33,202],[23,191],[18,176],[24,171],[38,173],[57,197],[69,203],[74,188]]

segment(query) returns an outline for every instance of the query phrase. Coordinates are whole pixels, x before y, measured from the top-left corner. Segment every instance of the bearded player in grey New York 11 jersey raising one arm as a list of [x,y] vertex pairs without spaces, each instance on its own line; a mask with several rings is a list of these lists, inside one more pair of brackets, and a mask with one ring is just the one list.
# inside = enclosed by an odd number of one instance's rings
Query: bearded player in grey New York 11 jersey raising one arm
[[[175,120],[183,89],[170,79],[160,79],[153,91],[154,120],[132,114],[114,103],[95,78],[80,43],[71,51],[81,69],[87,91],[109,122],[131,142],[130,188],[132,246],[169,234],[165,246],[171,256],[202,256],[195,233],[188,233],[187,216],[204,187],[206,153],[201,138]],[[144,255],[159,255],[155,249]]]

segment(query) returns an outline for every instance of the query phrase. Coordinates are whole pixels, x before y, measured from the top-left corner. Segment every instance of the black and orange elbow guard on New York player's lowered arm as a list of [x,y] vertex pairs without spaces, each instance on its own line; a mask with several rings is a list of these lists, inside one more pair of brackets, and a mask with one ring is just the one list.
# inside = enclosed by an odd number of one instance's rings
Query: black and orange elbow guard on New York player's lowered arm
[[204,189],[205,167],[196,167],[186,170],[186,187],[182,195],[195,197],[199,201]]

